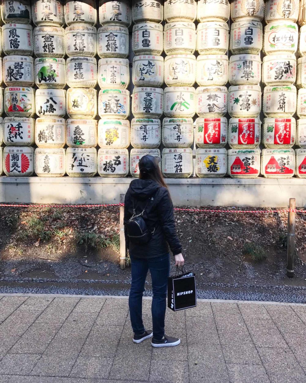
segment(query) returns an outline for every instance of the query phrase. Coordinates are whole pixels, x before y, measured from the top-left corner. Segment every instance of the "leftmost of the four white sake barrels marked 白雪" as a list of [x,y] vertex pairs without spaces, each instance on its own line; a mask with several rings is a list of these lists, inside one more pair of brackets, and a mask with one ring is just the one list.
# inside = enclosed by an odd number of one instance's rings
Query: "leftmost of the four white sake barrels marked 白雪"
[[135,55],[160,56],[164,49],[163,26],[148,22],[133,25],[132,49]]

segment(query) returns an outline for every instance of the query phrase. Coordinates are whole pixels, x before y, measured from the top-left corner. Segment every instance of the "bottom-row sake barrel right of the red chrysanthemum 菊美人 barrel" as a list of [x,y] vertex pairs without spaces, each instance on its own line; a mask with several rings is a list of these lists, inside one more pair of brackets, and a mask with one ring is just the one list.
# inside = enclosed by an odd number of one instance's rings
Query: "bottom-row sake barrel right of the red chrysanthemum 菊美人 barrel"
[[63,177],[66,152],[62,148],[39,148],[34,153],[34,170],[38,177]]

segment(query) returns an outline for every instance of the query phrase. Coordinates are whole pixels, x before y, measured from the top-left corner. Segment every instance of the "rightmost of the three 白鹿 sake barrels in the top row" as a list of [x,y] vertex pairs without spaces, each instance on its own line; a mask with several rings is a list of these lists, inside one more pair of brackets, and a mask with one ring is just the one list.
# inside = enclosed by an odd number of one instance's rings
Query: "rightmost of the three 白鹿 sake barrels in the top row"
[[132,11],[129,0],[100,0],[100,24],[120,24],[129,27],[132,22]]

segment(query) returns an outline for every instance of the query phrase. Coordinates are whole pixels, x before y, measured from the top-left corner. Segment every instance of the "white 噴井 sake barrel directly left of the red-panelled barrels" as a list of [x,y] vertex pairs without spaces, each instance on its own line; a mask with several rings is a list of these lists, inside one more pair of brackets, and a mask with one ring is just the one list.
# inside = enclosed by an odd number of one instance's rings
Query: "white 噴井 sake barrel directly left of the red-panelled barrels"
[[191,147],[194,143],[192,118],[164,118],[161,139],[165,147]]

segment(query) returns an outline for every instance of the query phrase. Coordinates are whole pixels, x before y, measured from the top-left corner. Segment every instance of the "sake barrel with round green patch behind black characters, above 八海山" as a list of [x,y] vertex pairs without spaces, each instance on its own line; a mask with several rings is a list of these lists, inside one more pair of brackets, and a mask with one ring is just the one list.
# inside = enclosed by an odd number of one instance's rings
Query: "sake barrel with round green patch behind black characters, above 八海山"
[[66,86],[65,60],[55,57],[35,59],[35,83],[38,88],[64,88]]

